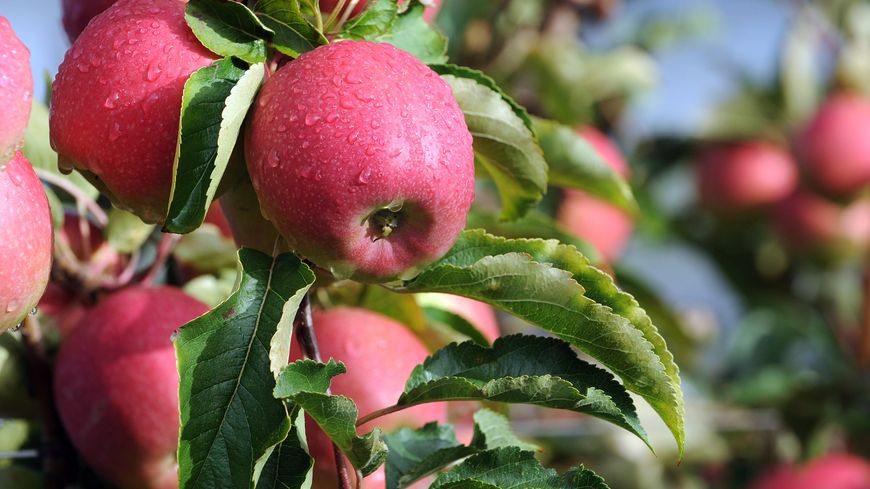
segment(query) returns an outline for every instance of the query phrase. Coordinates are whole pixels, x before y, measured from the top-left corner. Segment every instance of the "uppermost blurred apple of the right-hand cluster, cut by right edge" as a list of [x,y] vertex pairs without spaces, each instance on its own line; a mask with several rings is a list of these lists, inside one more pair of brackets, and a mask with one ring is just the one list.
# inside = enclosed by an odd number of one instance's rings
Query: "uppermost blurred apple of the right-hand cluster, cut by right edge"
[[870,187],[870,102],[847,93],[830,96],[798,135],[807,172],[833,195]]

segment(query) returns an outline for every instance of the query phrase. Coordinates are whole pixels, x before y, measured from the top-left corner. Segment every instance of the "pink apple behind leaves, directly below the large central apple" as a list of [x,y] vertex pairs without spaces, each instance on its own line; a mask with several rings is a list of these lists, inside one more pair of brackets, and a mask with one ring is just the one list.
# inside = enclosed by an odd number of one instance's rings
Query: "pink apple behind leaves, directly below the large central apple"
[[[334,358],[347,366],[347,373],[332,381],[332,393],[354,400],[360,415],[392,406],[405,389],[415,366],[429,355],[426,347],[407,328],[386,316],[365,309],[338,307],[313,312],[314,331],[324,361]],[[294,339],[291,359],[301,357]],[[375,426],[392,431],[403,426],[418,428],[430,421],[444,422],[444,403],[421,404],[378,418],[359,428],[366,433]],[[338,487],[332,444],[321,429],[306,420],[308,448],[315,459],[314,488]],[[383,488],[383,468],[365,479],[368,489]]]

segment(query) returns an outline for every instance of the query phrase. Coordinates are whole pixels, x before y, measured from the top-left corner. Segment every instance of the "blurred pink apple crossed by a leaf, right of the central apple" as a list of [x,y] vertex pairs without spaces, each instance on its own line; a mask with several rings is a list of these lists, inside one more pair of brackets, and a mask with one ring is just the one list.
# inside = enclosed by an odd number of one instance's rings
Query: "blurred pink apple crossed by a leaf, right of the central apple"
[[[613,141],[593,127],[578,132],[611,168],[628,177],[628,164]],[[592,244],[608,262],[619,258],[634,229],[631,216],[622,209],[571,189],[565,191],[557,219],[569,232]]]

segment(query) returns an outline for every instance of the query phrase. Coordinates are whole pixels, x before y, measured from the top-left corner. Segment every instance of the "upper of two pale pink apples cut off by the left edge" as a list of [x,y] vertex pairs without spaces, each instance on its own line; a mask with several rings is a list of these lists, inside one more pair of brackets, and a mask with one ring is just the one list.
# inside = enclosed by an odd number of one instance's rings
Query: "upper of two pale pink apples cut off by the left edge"
[[6,17],[0,16],[0,165],[12,159],[24,140],[33,99],[30,51]]

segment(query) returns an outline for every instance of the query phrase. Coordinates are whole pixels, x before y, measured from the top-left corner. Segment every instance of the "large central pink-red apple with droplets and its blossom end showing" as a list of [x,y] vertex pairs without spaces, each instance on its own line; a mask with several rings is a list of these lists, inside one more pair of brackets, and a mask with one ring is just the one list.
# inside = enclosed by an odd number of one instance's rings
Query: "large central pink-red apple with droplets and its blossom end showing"
[[263,214],[291,248],[383,282],[441,257],[465,227],[471,142],[435,72],[388,44],[344,41],[266,81],[246,152]]

